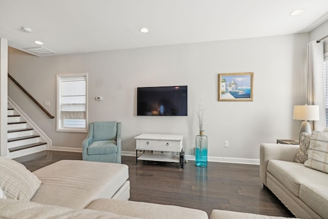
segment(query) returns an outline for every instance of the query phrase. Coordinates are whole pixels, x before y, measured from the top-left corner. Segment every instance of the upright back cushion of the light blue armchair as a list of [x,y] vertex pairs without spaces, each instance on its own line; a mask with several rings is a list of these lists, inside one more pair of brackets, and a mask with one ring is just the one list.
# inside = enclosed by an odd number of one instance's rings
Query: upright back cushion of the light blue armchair
[[116,140],[117,122],[94,122],[93,141]]

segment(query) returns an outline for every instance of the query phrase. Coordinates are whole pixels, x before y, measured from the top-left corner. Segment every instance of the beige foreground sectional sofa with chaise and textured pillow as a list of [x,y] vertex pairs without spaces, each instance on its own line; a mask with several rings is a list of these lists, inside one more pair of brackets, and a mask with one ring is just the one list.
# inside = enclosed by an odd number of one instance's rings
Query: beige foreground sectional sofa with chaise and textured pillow
[[[0,157],[0,218],[209,218],[198,209],[128,201],[128,177],[124,164],[59,161],[31,173]],[[210,218],[280,217],[213,210]]]

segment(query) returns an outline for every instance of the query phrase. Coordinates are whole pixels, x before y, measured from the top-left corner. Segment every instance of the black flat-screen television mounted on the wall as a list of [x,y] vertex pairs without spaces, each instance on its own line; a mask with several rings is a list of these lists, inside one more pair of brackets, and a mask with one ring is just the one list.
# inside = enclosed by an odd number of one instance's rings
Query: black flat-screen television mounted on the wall
[[188,115],[187,86],[137,88],[137,115]]

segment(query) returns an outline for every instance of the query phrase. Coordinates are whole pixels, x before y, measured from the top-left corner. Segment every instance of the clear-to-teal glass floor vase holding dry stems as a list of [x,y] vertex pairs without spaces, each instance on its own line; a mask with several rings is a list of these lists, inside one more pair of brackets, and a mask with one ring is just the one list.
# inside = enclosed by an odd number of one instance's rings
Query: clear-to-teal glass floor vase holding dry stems
[[207,142],[208,137],[204,135],[204,131],[199,131],[196,135],[196,160],[197,167],[207,167]]

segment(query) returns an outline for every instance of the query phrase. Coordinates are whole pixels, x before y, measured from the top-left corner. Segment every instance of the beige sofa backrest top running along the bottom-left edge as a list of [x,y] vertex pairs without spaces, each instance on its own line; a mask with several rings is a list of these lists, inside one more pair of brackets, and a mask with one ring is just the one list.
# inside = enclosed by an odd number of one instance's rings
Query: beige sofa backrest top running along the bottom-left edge
[[0,200],[0,218],[44,219],[44,218],[88,218],[88,219],[132,219],[110,212],[89,209],[71,209],[54,205],[42,205],[35,202]]

